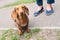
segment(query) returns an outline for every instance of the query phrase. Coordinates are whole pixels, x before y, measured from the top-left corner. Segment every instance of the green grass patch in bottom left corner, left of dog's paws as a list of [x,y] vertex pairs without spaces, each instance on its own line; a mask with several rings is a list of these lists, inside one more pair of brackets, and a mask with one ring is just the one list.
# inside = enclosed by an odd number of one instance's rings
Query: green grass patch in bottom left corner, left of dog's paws
[[10,40],[18,40],[19,39],[19,35],[17,33],[13,33],[12,29],[9,30],[5,30],[2,35],[0,36],[0,40],[6,40],[6,39],[10,39]]

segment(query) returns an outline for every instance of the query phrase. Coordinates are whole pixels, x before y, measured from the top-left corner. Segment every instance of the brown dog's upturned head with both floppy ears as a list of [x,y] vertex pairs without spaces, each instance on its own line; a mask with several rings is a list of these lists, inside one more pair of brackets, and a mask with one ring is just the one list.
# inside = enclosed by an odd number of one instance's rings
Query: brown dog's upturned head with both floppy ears
[[14,13],[13,14],[14,15],[14,19],[16,19],[16,18],[17,19],[21,19],[20,21],[22,22],[22,20],[27,21],[26,18],[29,15],[29,10],[28,10],[28,8],[25,5],[19,5],[19,6],[16,6],[13,9],[12,13]]

